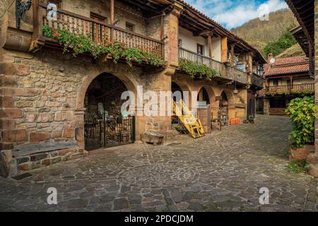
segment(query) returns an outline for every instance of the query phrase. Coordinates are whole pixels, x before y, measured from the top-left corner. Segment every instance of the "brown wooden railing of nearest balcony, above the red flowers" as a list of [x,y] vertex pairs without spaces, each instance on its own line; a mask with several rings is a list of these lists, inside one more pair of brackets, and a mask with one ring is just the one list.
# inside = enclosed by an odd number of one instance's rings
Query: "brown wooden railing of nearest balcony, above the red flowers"
[[146,52],[154,54],[156,57],[163,57],[163,41],[155,40],[135,32],[128,32],[122,28],[64,11],[60,8],[57,10],[57,21],[49,23],[46,18],[47,5],[40,3],[39,6],[40,28],[43,25],[47,25],[57,30],[69,30],[69,32],[78,35],[87,35],[91,40],[96,42],[102,42],[102,39],[107,35],[113,42],[124,43],[127,48],[141,48]]

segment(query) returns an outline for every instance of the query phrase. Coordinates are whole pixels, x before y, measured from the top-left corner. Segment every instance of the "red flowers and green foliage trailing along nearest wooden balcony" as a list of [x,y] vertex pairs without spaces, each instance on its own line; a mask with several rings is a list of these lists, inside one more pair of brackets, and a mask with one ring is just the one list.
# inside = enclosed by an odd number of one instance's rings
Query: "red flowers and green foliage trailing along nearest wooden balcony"
[[88,35],[77,35],[68,30],[52,30],[46,25],[42,31],[46,37],[57,40],[64,47],[64,53],[72,51],[74,57],[78,54],[90,54],[98,58],[110,54],[116,64],[119,59],[124,59],[129,66],[143,63],[160,66],[164,63],[161,57],[146,52],[143,48],[126,48],[124,43],[110,41],[107,35],[102,38],[102,42],[96,42]]

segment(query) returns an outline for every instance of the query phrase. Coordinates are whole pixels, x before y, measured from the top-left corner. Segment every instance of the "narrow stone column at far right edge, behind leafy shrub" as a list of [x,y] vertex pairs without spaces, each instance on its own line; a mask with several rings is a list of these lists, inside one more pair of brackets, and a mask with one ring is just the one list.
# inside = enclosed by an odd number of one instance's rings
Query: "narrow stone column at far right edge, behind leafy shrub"
[[[318,0],[314,1],[314,52],[316,53],[314,56],[314,96],[316,105],[318,105]],[[318,114],[317,114],[318,117]],[[314,133],[314,144],[315,144],[315,153],[310,155],[307,158],[307,162],[310,163],[310,174],[314,177],[318,177],[318,119],[314,124],[315,133]]]

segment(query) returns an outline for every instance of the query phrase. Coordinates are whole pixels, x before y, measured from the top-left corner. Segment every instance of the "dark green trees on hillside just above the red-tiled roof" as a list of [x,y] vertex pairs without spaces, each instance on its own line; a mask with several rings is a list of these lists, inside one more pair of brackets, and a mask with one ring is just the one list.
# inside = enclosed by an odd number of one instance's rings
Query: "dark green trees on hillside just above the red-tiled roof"
[[295,37],[293,37],[289,30],[290,28],[285,30],[283,35],[281,35],[278,40],[269,42],[269,44],[266,45],[264,48],[264,54],[266,54],[266,56],[270,53],[272,53],[274,56],[277,56],[284,52],[285,49],[288,49],[297,43]]

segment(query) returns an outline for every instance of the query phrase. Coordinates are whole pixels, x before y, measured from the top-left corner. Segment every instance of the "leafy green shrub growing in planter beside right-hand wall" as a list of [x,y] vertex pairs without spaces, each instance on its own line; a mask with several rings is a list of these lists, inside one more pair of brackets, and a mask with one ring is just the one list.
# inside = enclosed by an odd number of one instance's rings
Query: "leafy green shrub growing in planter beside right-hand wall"
[[314,119],[316,119],[317,110],[317,106],[314,105],[314,96],[296,98],[288,105],[285,112],[293,124],[293,130],[289,136],[292,148],[301,148],[307,143],[314,142]]

